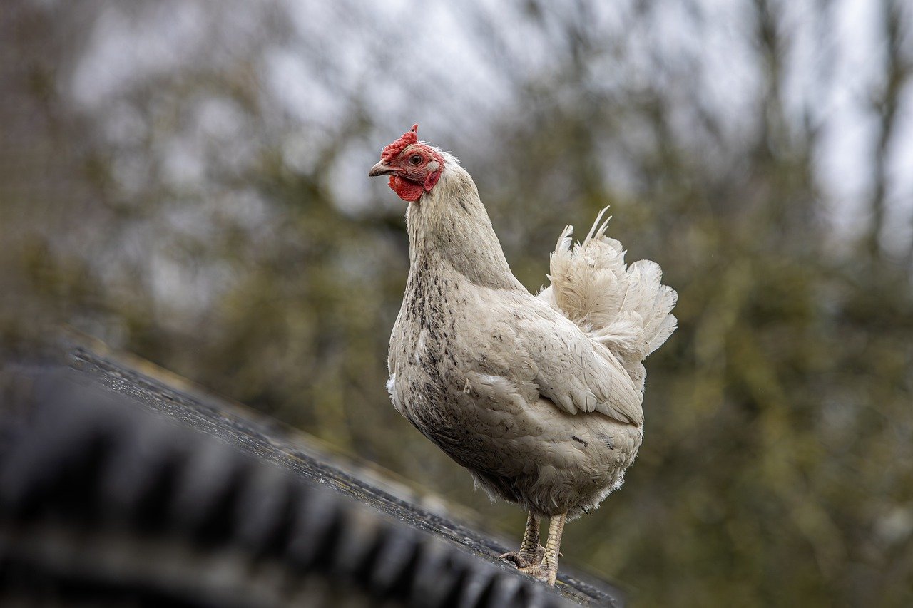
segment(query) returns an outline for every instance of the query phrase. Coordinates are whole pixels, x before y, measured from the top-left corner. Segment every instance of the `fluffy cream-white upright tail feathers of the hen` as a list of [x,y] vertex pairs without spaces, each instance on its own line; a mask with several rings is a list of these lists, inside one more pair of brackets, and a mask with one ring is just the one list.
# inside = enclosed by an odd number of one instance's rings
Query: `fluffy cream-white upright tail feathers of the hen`
[[551,254],[551,286],[539,297],[613,351],[642,382],[641,362],[676,330],[672,309],[678,296],[661,283],[656,262],[625,265],[622,244],[605,236],[612,219],[603,221],[607,210],[596,216],[582,243],[572,245],[573,226],[564,228]]

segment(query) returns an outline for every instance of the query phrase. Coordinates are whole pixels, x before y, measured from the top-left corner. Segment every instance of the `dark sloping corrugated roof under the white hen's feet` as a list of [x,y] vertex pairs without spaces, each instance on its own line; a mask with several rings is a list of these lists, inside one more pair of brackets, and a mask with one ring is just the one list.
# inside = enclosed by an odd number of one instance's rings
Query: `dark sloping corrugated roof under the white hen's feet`
[[20,368],[0,429],[0,603],[620,605],[284,425],[83,348]]

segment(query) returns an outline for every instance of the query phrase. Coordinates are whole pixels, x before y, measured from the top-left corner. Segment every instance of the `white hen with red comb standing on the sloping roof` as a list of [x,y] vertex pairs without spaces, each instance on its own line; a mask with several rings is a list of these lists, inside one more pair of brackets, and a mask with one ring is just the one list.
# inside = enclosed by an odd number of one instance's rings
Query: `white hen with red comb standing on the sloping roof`
[[625,266],[603,209],[581,244],[564,229],[551,286],[533,296],[510,272],[472,178],[417,131],[369,173],[389,175],[409,203],[387,389],[477,486],[529,511],[519,551],[501,559],[554,584],[565,520],[620,487],[641,445],[642,362],[676,329],[677,294],[656,263]]

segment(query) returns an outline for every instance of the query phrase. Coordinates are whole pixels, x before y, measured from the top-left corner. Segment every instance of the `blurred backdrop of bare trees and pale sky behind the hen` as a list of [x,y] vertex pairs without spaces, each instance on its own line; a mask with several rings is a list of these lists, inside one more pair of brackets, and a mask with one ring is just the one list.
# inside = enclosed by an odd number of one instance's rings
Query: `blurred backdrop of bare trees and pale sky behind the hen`
[[636,605],[909,605],[913,5],[5,0],[0,351],[66,324],[516,538],[394,412],[413,122],[511,267],[612,205],[679,329],[562,563]]

